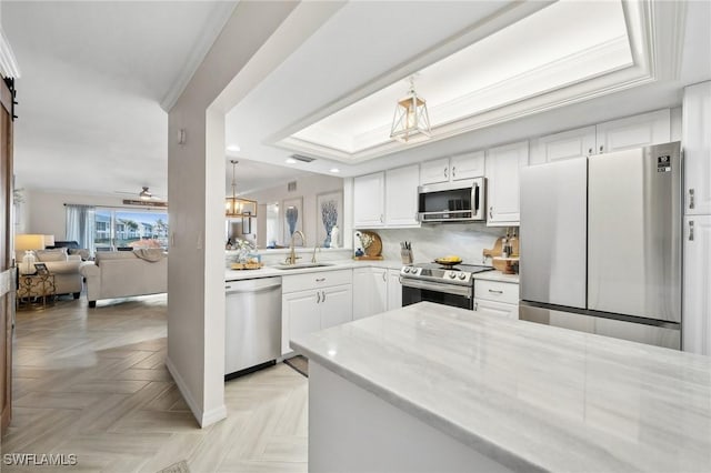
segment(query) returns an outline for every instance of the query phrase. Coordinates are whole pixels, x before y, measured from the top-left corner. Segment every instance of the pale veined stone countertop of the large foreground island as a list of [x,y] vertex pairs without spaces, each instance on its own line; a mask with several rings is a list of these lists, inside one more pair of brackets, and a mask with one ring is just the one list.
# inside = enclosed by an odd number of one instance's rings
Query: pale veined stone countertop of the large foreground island
[[422,302],[291,341],[519,471],[711,471],[711,358]]

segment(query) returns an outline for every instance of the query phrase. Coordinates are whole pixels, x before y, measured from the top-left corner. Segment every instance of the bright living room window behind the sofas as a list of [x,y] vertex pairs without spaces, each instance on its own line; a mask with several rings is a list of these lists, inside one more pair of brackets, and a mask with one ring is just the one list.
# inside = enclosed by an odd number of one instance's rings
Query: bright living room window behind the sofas
[[94,229],[97,251],[168,249],[168,214],[164,212],[97,208]]

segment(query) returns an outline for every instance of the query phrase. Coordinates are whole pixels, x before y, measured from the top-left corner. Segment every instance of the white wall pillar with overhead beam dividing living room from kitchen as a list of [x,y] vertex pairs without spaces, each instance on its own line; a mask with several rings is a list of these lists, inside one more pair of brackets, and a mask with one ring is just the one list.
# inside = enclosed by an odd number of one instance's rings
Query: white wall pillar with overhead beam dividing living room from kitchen
[[224,113],[341,6],[238,3],[169,113],[167,365],[202,426],[227,415]]

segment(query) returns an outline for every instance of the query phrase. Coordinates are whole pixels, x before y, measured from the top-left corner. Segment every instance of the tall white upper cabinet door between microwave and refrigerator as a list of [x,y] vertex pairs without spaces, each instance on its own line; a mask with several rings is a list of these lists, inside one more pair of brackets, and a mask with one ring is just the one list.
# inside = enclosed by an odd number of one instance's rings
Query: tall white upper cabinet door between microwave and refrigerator
[[519,169],[528,162],[528,141],[487,151],[487,225],[519,224]]

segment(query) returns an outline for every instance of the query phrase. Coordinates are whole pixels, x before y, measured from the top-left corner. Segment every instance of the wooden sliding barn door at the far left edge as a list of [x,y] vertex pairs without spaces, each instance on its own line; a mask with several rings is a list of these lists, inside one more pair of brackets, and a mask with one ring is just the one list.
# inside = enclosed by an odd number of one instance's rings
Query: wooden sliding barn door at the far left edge
[[12,322],[14,268],[12,227],[12,102],[13,92],[0,81],[0,434],[10,425],[12,407]]

